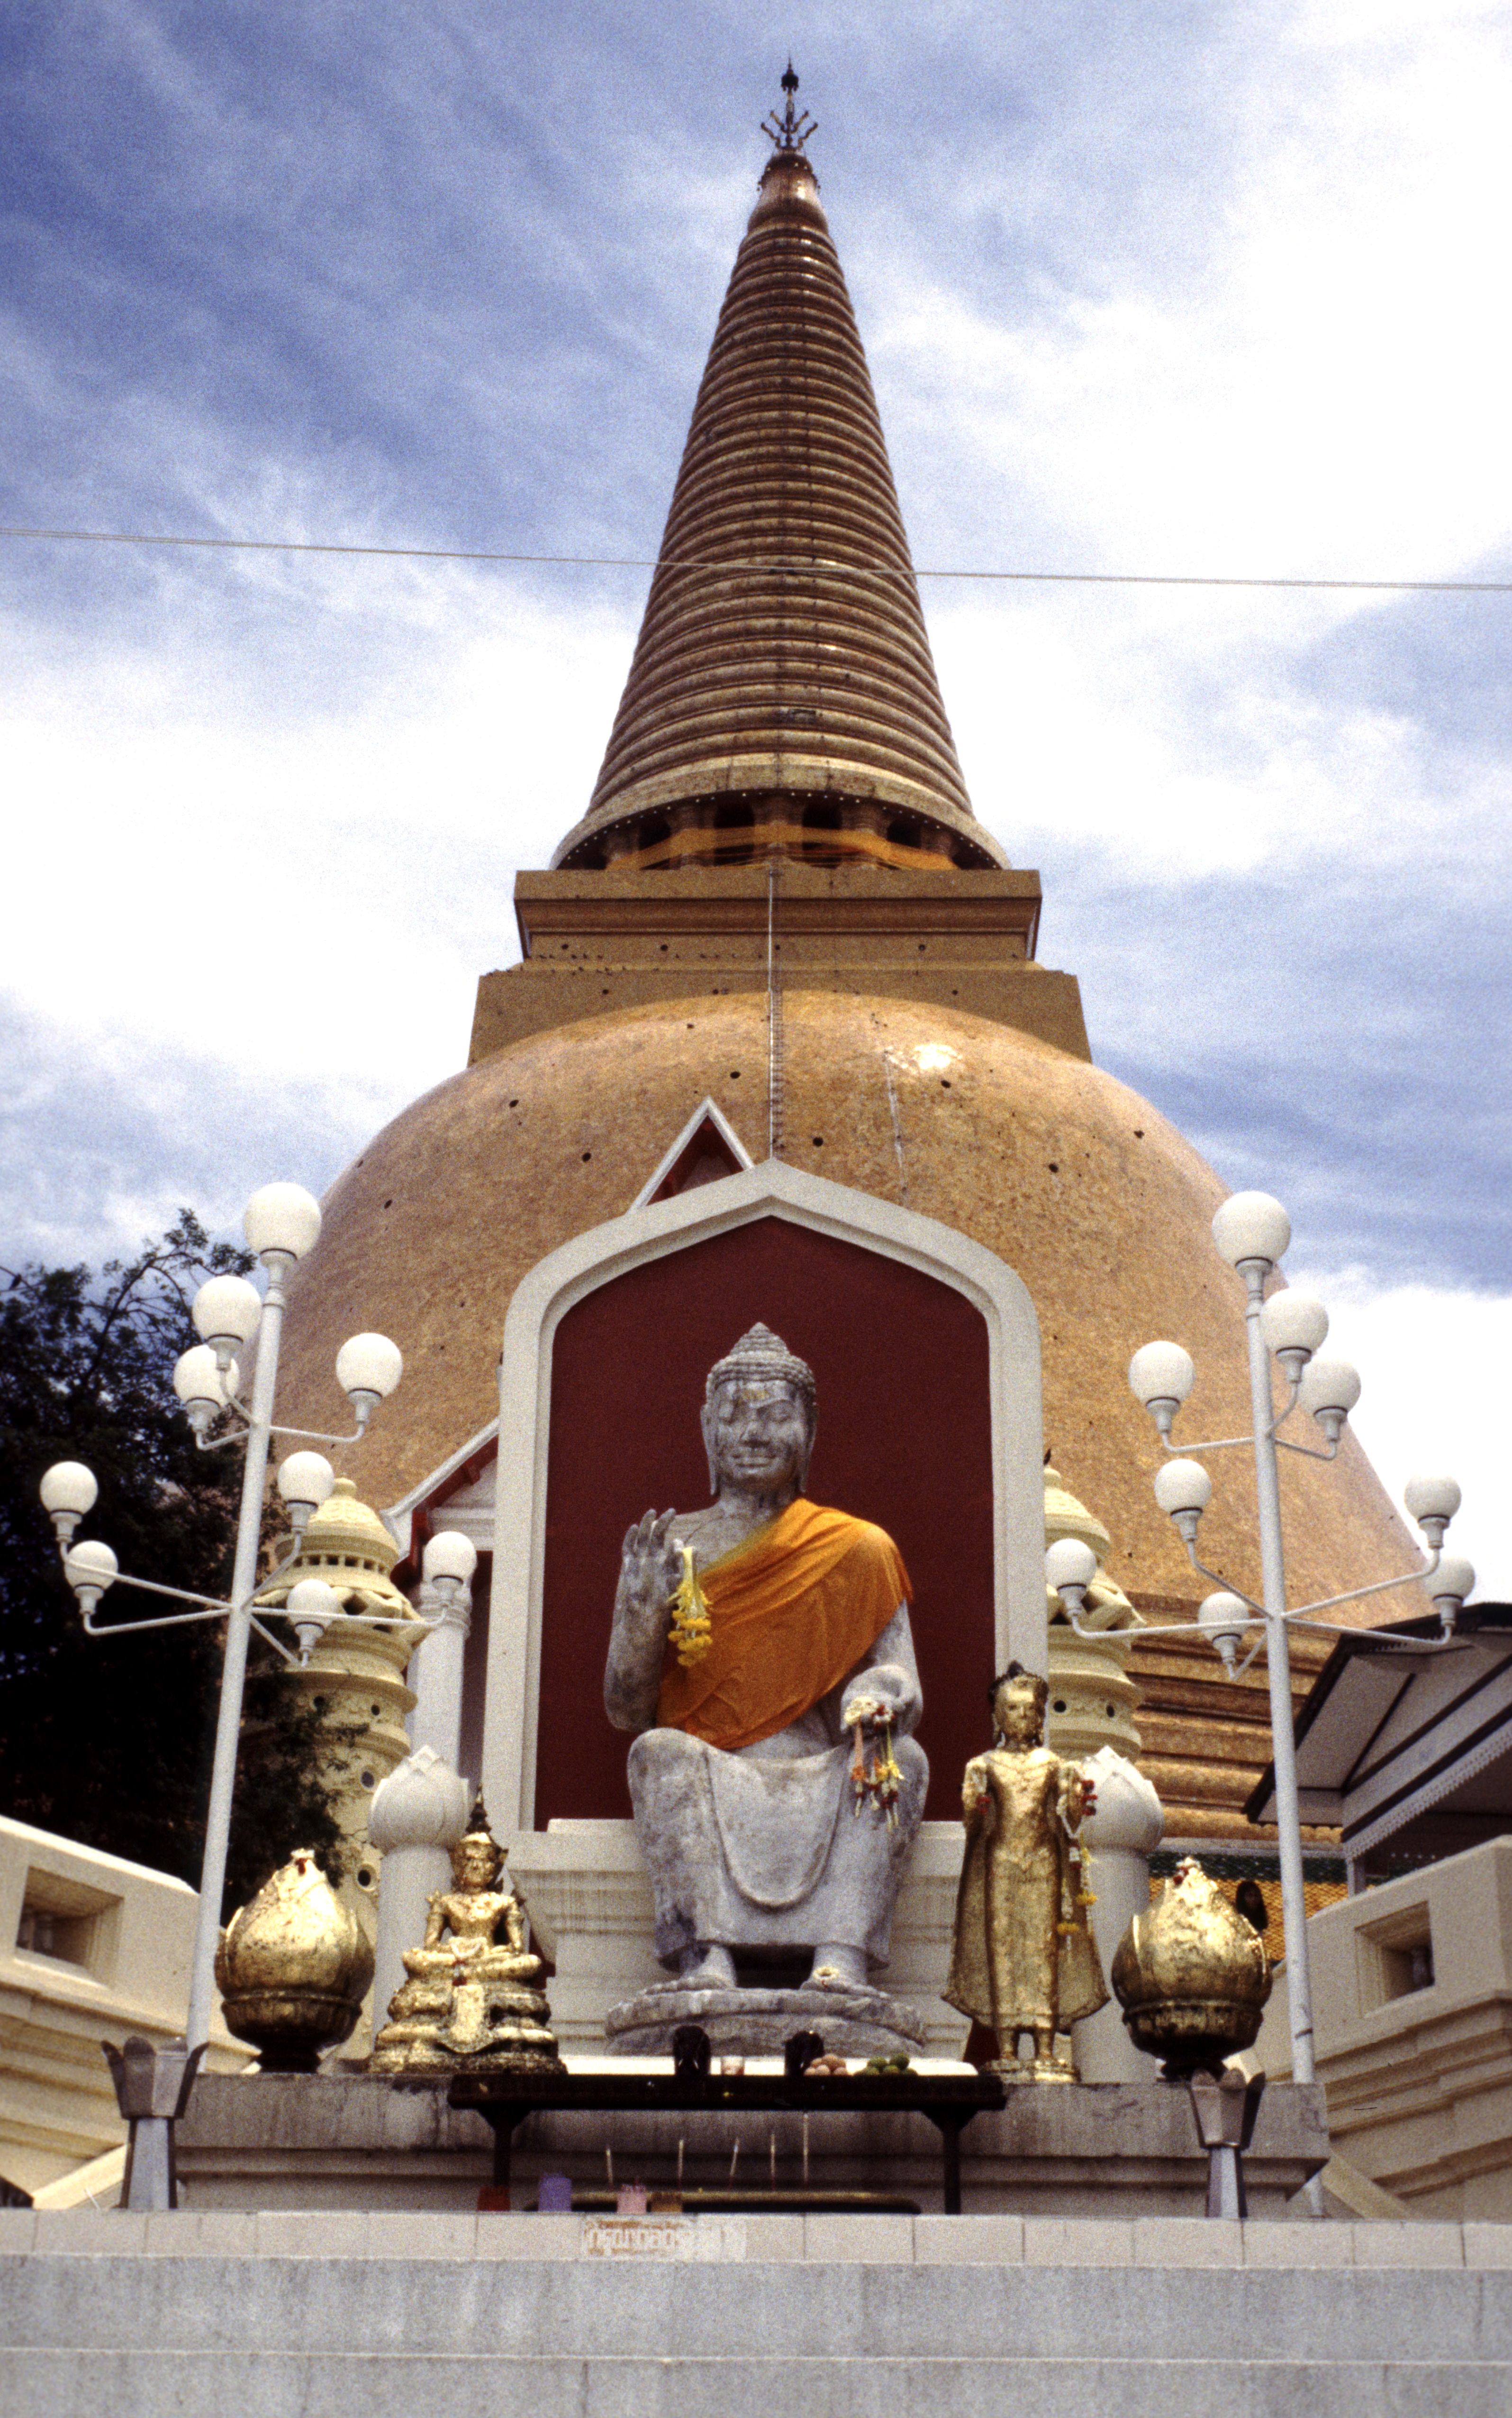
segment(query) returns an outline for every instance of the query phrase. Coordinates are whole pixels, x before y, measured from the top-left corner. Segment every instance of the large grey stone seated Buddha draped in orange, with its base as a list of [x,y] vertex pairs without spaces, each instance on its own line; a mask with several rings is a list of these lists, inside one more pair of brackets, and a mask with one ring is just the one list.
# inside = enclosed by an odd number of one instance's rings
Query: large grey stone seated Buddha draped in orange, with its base
[[624,2053],[689,2019],[750,2050],[922,2038],[871,1980],[929,1784],[910,1584],[883,1528],[806,1499],[813,1436],[813,1371],[752,1327],[709,1371],[714,1502],[624,1538],[605,1707],[673,1973],[610,2009]]

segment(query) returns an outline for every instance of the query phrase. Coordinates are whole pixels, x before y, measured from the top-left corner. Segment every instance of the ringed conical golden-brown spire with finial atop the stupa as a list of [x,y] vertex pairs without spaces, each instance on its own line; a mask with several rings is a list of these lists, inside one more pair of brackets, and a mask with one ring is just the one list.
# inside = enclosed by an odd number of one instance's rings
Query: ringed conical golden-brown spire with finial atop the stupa
[[554,866],[1002,866],[946,721],[798,77],[735,256],[646,617]]

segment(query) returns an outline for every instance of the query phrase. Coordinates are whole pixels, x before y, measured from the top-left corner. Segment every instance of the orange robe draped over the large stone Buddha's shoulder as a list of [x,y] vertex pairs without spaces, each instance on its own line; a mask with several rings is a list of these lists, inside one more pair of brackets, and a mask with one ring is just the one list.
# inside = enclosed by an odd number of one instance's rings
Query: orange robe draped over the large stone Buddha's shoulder
[[668,1647],[656,1722],[726,1753],[801,1722],[912,1603],[883,1528],[803,1497],[702,1569],[699,1586],[709,1651],[682,1668]]

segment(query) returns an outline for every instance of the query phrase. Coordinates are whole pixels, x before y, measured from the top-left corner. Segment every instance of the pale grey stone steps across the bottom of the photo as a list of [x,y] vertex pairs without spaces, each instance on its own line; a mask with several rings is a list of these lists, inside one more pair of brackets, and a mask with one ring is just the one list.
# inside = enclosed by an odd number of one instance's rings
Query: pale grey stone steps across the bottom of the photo
[[1512,2227],[0,2215],[2,2418],[1505,2418]]

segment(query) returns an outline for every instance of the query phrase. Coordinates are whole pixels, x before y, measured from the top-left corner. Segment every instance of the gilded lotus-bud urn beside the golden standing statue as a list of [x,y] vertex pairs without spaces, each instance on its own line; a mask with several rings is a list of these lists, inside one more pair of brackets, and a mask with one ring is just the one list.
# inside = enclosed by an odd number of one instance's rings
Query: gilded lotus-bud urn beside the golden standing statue
[[1135,1915],[1108,1978],[1135,2048],[1164,2058],[1168,2082],[1217,2075],[1253,2043],[1270,1997],[1260,1934],[1193,1857]]

